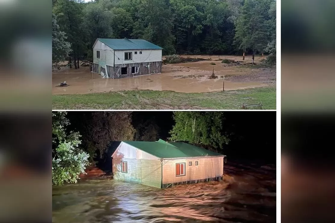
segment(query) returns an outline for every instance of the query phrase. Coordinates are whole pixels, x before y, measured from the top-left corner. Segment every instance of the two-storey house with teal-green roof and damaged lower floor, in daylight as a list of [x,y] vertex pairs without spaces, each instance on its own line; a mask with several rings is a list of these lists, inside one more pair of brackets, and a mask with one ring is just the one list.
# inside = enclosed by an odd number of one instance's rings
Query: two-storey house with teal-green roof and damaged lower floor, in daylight
[[162,47],[144,39],[97,38],[91,72],[125,78],[162,72]]

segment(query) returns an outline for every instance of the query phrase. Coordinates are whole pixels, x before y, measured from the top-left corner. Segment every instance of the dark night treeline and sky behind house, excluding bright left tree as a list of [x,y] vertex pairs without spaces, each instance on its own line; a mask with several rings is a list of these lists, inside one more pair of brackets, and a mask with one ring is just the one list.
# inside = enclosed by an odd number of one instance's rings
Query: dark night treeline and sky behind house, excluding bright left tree
[[68,112],[66,117],[69,130],[82,136],[80,147],[91,162],[105,159],[115,141],[158,139],[185,141],[230,157],[275,159],[275,113],[244,113]]

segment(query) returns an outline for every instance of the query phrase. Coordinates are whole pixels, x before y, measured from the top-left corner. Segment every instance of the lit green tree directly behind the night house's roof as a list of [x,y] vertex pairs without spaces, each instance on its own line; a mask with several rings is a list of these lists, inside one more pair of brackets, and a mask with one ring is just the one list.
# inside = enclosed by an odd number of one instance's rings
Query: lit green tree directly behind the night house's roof
[[174,112],[174,119],[176,124],[170,131],[170,140],[220,149],[229,142],[223,128],[223,112]]

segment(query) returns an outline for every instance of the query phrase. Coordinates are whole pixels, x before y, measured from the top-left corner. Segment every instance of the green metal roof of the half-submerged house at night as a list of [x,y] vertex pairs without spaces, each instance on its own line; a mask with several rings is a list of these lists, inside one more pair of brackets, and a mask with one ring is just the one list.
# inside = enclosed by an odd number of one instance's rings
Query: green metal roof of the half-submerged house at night
[[200,156],[223,156],[220,153],[213,152],[198,146],[190,145],[185,142],[165,142],[159,139],[156,142],[143,141],[124,141],[138,149],[150,153],[159,158],[183,158]]

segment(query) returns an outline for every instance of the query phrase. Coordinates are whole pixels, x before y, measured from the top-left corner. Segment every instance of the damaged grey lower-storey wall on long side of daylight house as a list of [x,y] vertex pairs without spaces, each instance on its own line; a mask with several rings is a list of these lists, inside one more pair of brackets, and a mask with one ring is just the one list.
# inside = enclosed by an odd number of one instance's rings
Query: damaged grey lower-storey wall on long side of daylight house
[[[138,66],[138,73],[132,73],[132,67]],[[126,74],[121,74],[121,68],[127,68]],[[126,78],[126,77],[135,77],[139,75],[147,74],[159,74],[162,72],[162,62],[146,62],[146,63],[131,63],[131,64],[116,64],[115,68],[107,66],[108,74],[110,78]]]

